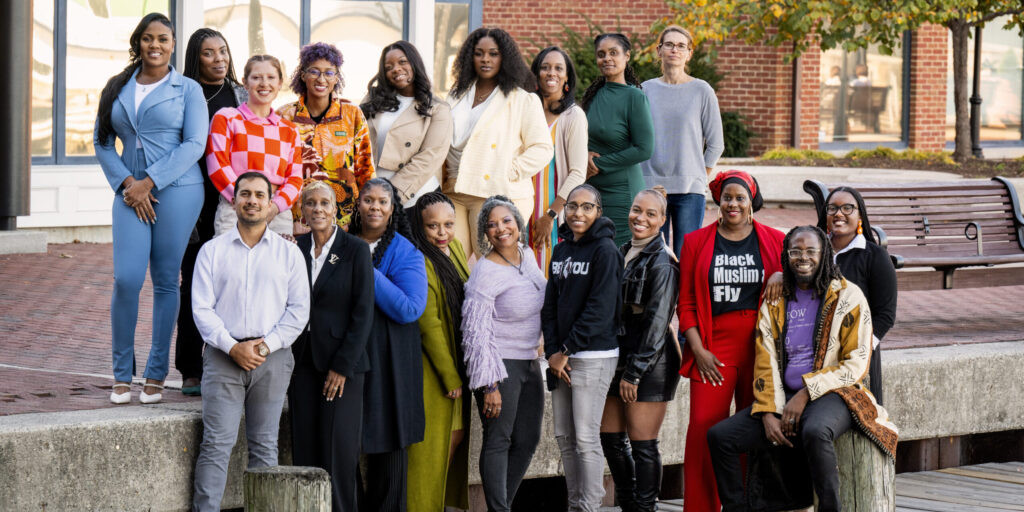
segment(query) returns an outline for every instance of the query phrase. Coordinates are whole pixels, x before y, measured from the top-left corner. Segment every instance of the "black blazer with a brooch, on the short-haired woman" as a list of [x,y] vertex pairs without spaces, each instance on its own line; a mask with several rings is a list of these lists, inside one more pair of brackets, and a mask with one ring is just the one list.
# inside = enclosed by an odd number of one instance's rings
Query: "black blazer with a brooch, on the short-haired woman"
[[[312,233],[296,237],[306,275],[312,267]],[[374,267],[366,242],[337,228],[324,268],[311,283],[309,329],[295,341],[295,360],[311,350],[317,371],[345,377],[370,370],[367,341],[374,322]]]

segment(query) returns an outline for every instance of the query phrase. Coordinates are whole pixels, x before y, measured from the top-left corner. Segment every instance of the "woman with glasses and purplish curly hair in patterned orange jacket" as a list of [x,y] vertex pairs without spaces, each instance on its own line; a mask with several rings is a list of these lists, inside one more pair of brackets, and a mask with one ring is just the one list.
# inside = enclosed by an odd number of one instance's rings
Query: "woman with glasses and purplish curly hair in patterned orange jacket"
[[[374,177],[370,131],[359,108],[342,99],[344,58],[332,44],[312,43],[299,51],[299,66],[292,74],[292,90],[299,100],[278,110],[295,123],[303,142],[303,178],[327,180],[338,198],[338,225],[347,228],[355,199],[364,183]],[[309,230],[294,209],[295,233]]]

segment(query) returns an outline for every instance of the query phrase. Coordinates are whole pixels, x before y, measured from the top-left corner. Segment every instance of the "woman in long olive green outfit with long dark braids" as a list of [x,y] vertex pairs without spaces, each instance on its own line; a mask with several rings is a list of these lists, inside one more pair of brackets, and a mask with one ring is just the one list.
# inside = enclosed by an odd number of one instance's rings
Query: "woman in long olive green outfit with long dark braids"
[[425,194],[412,208],[413,242],[427,267],[423,337],[423,441],[409,447],[410,512],[445,506],[469,508],[469,396],[462,357],[463,286],[469,279],[466,253],[455,238],[455,206],[439,191]]

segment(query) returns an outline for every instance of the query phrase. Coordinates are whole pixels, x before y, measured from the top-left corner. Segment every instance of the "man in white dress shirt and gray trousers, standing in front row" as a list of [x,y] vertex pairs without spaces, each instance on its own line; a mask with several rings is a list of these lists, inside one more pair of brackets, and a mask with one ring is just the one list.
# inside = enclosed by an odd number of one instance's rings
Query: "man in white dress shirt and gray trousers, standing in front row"
[[196,260],[193,316],[207,343],[193,498],[201,512],[220,510],[243,413],[249,467],[278,465],[291,345],[309,317],[309,282],[299,248],[267,229],[270,197],[262,174],[239,176],[236,229],[207,242]]

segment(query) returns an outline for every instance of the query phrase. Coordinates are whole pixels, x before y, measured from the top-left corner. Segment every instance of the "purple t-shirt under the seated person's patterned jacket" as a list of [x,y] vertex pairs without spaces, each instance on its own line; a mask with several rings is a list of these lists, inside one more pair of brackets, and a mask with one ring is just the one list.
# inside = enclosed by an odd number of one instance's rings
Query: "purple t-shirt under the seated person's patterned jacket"
[[804,388],[803,375],[814,369],[814,321],[821,299],[813,290],[797,289],[797,297],[785,304],[785,387],[799,391]]

